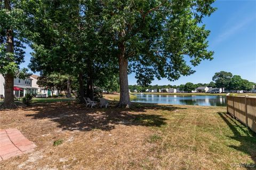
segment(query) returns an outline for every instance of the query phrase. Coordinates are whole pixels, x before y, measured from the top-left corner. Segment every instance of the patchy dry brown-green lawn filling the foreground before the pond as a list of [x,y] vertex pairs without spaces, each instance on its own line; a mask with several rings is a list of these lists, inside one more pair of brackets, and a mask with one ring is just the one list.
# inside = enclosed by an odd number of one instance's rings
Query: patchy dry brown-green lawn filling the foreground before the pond
[[255,133],[226,107],[40,102],[0,112],[0,128],[37,145],[0,169],[250,169],[238,165],[256,161]]

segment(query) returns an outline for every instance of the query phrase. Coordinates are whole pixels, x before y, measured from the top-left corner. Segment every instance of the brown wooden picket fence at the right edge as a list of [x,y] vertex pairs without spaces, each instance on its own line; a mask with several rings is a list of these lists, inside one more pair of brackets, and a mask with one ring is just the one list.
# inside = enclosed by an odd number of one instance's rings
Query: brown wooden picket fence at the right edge
[[256,98],[227,96],[227,112],[256,132]]

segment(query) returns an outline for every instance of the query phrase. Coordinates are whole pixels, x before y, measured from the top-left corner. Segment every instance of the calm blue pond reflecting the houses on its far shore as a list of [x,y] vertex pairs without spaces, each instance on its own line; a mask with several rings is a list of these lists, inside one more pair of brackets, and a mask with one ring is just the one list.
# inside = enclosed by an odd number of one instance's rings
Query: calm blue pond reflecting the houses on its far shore
[[199,106],[226,106],[226,96],[221,95],[162,95],[134,94],[131,101],[141,103],[189,104]]

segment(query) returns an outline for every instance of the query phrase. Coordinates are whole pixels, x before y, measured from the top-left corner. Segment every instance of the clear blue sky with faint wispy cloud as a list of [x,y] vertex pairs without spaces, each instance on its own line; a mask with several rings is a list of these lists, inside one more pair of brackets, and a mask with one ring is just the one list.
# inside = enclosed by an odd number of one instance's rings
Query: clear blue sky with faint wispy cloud
[[[170,82],[155,79],[152,85],[179,85],[187,82],[209,83],[215,72],[229,71],[251,82],[256,82],[256,0],[255,1],[216,1],[217,7],[211,17],[205,18],[206,29],[211,30],[209,50],[214,51],[212,61],[202,61],[195,67],[195,74]],[[26,48],[27,68],[31,48]],[[129,75],[129,84],[136,83],[135,75]]]

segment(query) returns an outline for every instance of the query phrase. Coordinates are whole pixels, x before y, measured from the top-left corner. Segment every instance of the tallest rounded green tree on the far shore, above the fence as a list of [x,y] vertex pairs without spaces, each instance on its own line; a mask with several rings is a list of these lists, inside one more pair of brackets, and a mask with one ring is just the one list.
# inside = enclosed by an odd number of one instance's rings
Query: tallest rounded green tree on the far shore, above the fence
[[224,87],[229,86],[232,76],[231,72],[220,71],[214,74],[212,80],[215,82],[216,87],[221,88],[223,92]]

